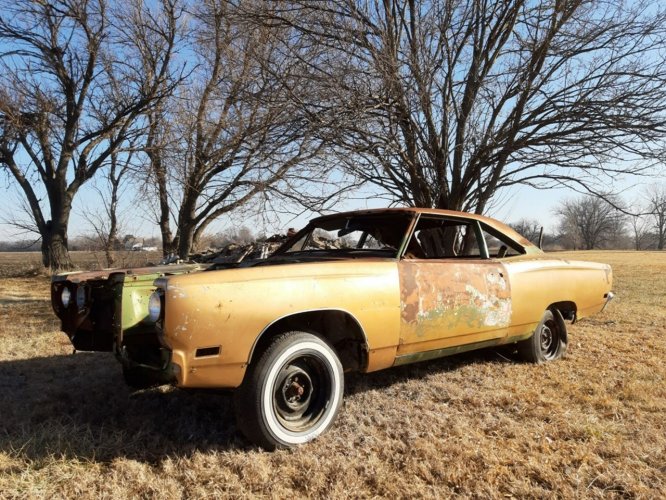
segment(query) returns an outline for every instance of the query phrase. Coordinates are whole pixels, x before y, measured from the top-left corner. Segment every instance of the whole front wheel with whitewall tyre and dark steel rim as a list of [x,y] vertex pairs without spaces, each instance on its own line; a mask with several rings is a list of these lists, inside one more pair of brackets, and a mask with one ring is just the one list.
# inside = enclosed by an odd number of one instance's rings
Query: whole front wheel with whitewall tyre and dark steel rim
[[344,375],[331,346],[306,332],[276,337],[252,363],[235,393],[236,422],[252,442],[290,448],[331,427]]

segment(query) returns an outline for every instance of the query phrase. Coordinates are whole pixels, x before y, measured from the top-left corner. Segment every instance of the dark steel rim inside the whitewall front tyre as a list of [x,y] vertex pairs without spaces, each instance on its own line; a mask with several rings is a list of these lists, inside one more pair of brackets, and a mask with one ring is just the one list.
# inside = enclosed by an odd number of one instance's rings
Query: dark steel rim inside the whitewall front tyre
[[308,432],[326,413],[333,375],[319,356],[299,355],[282,365],[273,387],[273,411],[280,425],[289,432]]

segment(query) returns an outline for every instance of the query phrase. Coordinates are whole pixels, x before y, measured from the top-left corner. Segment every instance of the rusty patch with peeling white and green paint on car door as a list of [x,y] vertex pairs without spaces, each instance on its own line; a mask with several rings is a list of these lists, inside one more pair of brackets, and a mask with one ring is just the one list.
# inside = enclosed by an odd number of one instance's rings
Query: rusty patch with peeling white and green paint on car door
[[418,341],[508,327],[511,290],[496,262],[400,263],[402,338]]

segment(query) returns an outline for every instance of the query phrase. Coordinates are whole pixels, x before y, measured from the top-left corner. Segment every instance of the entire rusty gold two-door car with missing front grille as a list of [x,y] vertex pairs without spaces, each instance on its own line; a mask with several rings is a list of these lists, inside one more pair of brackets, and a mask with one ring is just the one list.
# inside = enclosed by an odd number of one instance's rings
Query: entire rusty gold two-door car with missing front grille
[[319,217],[264,260],[61,275],[52,301],[76,349],[115,352],[131,385],[234,389],[275,448],[332,425],[344,371],[502,344],[558,359],[611,286],[496,220],[405,208]]

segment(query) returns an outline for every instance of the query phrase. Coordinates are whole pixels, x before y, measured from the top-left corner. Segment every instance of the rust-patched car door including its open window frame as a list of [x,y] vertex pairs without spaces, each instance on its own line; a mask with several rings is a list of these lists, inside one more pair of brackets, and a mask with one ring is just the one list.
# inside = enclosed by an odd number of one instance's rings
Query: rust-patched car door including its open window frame
[[511,286],[474,219],[422,215],[398,263],[398,355],[503,337]]

